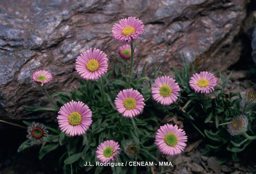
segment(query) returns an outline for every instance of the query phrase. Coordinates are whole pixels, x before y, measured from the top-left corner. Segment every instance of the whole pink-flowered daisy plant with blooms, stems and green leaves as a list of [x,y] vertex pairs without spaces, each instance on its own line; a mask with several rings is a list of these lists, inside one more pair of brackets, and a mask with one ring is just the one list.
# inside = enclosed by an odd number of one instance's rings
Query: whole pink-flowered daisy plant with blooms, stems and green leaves
[[[122,19],[112,28],[113,38],[125,43],[119,48],[121,57],[130,61],[129,72],[126,72],[126,65],[123,65],[125,74],[120,72],[118,64],[108,72],[109,58],[97,48],[84,51],[78,56],[75,68],[81,77],[81,86],[71,92],[48,95],[45,85],[53,76],[45,70],[33,74],[32,80],[42,87],[55,107],[24,108],[28,111],[46,110],[56,113],[55,122],[45,126],[49,133],[40,141],[42,146],[39,159],[58,148],[61,152],[59,164],[65,174],[78,173],[80,170],[93,170],[99,174],[103,167],[84,167],[84,164],[94,164],[96,161],[157,162],[161,154],[181,154],[189,137],[177,125],[161,123],[166,116],[183,117],[184,122],[191,123],[195,128],[189,131],[196,130],[211,140],[219,141],[220,138],[222,145],[228,143],[223,140],[220,131],[208,131],[207,124],[215,117],[214,129],[228,133],[225,117],[218,114],[228,114],[228,118],[240,114],[239,110],[225,108],[227,104],[223,95],[229,77],[223,79],[222,89],[215,90],[217,80],[214,74],[196,73],[192,67],[193,75],[190,77],[188,64],[184,65],[181,72],[172,67],[176,72],[175,79],[164,74],[157,77],[160,67],[154,72],[155,78],[150,79],[145,76],[146,64],[141,75],[133,73],[134,54],[139,51],[135,47],[139,44],[144,28],[142,21],[134,17]],[[54,97],[57,97],[57,103],[53,102]],[[238,102],[228,104],[231,107]],[[251,117],[255,116],[250,114]],[[202,119],[202,116],[205,118]],[[31,129],[32,123],[23,123]],[[200,127],[200,124],[203,126]],[[187,131],[186,127],[184,129]],[[205,129],[204,133],[202,129]],[[32,146],[31,143],[26,140],[18,152]],[[207,150],[216,150],[216,147],[208,145]],[[131,169],[120,166],[111,169],[117,174],[131,171],[136,173],[137,170],[136,167]],[[150,171],[149,168],[147,170]]]

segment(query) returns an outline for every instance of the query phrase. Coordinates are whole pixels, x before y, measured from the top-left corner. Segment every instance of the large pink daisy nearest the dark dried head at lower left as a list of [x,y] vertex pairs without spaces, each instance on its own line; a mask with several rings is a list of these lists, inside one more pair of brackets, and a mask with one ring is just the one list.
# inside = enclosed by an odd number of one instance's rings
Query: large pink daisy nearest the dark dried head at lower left
[[92,123],[91,110],[83,102],[67,102],[61,106],[58,114],[60,130],[70,136],[84,134]]

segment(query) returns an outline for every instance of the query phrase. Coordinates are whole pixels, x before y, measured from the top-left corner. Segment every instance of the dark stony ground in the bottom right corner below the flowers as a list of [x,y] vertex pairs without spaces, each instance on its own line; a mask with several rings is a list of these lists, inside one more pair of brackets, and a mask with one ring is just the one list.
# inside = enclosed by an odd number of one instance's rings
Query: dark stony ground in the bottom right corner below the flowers
[[166,156],[172,166],[159,167],[155,174],[254,174],[252,165],[234,163],[231,161],[220,165],[216,157],[202,156],[201,149],[176,156]]

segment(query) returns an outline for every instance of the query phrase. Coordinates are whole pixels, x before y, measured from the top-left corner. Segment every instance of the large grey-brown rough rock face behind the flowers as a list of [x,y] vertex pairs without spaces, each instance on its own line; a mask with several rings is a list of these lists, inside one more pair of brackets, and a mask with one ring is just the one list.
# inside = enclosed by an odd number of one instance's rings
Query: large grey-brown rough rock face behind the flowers
[[[145,23],[137,46],[135,67],[147,74],[153,67],[180,67],[195,61],[197,69],[224,70],[242,49],[239,31],[249,0],[1,0],[0,3],[0,118],[32,119],[22,105],[45,104],[33,86],[35,70],[53,73],[50,92],[76,86],[75,59],[90,47],[117,57],[120,43],[111,28],[121,18],[135,16]],[[153,66],[154,65],[154,66]],[[110,66],[111,67],[111,66]]]

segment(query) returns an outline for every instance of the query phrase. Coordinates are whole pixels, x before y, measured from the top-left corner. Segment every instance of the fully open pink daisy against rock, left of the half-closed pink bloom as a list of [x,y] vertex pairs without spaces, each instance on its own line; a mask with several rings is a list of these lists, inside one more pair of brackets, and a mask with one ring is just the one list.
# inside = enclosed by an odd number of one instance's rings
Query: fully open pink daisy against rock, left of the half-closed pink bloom
[[107,54],[99,49],[89,49],[76,60],[78,74],[86,80],[97,80],[108,71]]

